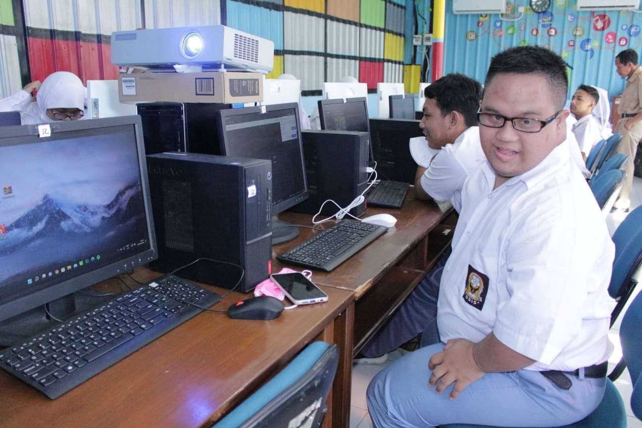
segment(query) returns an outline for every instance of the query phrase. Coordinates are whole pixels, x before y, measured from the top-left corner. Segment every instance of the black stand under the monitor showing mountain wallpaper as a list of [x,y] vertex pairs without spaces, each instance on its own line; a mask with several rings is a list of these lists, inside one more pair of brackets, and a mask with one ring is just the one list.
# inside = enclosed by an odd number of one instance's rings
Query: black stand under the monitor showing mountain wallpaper
[[66,318],[71,318],[82,312],[94,309],[96,306],[107,302],[113,297],[112,295],[101,293],[94,289],[85,289],[83,291],[87,290],[89,290],[92,296],[71,293],[71,295],[53,300],[46,305],[23,312],[8,320],[0,321],[0,347],[19,345],[26,339],[55,327],[58,321],[49,318],[45,307],[47,307],[49,313],[58,318],[58,320],[65,320]]

